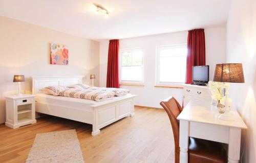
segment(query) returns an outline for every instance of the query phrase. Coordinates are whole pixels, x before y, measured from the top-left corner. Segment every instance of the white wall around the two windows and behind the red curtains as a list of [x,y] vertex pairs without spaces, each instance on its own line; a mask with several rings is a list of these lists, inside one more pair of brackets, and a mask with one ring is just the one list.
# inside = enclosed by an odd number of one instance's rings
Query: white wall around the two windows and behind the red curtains
[[[181,104],[183,93],[179,88],[156,88],[156,46],[187,43],[187,31],[119,40],[120,49],[144,49],[144,85],[121,86],[138,95],[136,105],[160,107],[161,100],[174,96]],[[206,64],[210,65],[212,76],[216,63],[225,62],[226,26],[205,29]],[[109,40],[100,41],[100,86],[106,85]]]

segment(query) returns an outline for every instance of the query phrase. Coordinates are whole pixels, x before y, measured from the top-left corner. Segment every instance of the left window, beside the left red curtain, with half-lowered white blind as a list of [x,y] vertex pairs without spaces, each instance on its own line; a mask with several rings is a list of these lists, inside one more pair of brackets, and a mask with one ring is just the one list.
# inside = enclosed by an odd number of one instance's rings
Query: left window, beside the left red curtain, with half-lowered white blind
[[143,52],[141,49],[120,50],[121,82],[143,82]]

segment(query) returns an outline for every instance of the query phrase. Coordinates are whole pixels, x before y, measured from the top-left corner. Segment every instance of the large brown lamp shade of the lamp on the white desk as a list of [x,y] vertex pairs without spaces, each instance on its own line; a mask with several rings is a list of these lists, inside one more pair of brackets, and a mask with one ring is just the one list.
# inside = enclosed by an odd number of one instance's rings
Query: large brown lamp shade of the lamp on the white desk
[[216,64],[213,81],[228,83],[244,83],[242,63]]

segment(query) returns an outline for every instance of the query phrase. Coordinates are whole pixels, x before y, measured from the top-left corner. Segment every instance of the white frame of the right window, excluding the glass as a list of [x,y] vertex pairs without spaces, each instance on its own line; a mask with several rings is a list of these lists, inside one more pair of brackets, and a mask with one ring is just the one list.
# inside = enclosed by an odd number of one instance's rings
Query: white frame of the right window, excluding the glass
[[169,87],[183,87],[184,82],[160,82],[160,50],[168,48],[170,46],[187,46],[187,43],[171,44],[171,45],[159,45],[156,46],[156,87],[158,86],[169,86]]

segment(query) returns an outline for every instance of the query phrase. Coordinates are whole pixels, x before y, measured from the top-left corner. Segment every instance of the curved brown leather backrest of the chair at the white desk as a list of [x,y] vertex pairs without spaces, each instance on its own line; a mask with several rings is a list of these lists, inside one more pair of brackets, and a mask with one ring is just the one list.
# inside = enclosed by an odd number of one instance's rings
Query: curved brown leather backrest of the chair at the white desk
[[174,97],[169,97],[160,102],[160,105],[164,108],[168,117],[170,119],[170,123],[172,124],[172,129],[174,133],[174,143],[175,143],[175,162],[180,162],[180,147],[179,147],[179,132],[180,132],[180,124],[179,120],[177,120],[178,115],[182,111],[182,107],[178,103],[178,101]]

